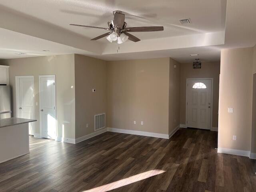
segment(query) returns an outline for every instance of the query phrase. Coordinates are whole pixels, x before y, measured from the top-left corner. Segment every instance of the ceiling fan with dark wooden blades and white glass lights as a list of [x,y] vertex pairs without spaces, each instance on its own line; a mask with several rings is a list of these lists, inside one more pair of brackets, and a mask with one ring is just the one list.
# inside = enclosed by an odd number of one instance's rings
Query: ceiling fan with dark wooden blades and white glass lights
[[106,37],[109,42],[116,41],[118,44],[121,44],[128,39],[133,42],[140,41],[139,38],[133,36],[132,34],[128,32],[151,32],[151,31],[163,31],[164,27],[162,26],[152,26],[152,27],[127,27],[127,23],[124,21],[125,15],[122,13],[122,11],[113,11],[114,20],[111,20],[108,22],[109,28],[103,28],[103,27],[94,27],[94,26],[86,26],[86,25],[77,25],[77,24],[70,24],[73,26],[79,26],[79,27],[89,27],[89,28],[98,28],[98,29],[104,29],[108,30],[109,32],[102,34],[98,37],[95,37],[91,40],[98,40],[100,38]]

